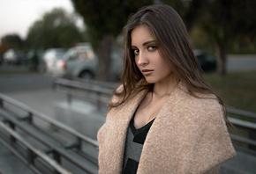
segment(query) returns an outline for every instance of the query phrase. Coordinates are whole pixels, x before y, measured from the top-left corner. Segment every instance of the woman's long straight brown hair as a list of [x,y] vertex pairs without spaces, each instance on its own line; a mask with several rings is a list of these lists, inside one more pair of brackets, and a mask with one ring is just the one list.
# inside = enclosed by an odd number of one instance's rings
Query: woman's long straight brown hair
[[[147,25],[153,33],[159,53],[168,63],[177,81],[184,83],[189,94],[194,97],[197,93],[212,93],[201,75],[201,69],[196,57],[192,52],[189,35],[182,18],[172,7],[166,4],[154,4],[140,9],[129,18],[124,26],[125,48],[124,67],[121,76],[123,90],[116,91],[114,95],[121,98],[118,102],[110,102],[109,108],[122,105],[129,97],[136,95],[139,91],[152,91],[153,85],[147,83],[140,73],[131,48],[132,29],[139,25]],[[225,107],[221,98],[215,94],[219,103]],[[227,120],[226,114],[225,118]]]

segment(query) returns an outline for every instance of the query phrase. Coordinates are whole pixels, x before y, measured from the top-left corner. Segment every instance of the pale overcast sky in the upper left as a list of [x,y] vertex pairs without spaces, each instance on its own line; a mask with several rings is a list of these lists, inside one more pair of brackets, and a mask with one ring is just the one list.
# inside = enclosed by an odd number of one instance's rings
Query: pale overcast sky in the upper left
[[70,0],[0,0],[0,39],[11,33],[25,39],[29,26],[56,7],[73,12]]

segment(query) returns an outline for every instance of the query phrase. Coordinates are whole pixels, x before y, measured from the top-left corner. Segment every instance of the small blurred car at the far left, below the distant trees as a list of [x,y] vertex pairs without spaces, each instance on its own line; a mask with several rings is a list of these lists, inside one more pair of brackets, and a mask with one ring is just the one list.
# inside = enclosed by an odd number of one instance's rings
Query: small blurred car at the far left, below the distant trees
[[10,64],[25,64],[26,63],[26,55],[19,49],[8,49],[4,53],[4,62]]

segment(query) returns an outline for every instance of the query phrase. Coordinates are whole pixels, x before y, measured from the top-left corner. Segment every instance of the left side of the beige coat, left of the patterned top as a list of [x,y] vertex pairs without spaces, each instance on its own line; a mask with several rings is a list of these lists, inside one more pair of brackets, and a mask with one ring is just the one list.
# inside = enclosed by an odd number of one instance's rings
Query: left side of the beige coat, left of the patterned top
[[127,128],[145,94],[145,91],[140,92],[125,105],[119,105],[108,113],[106,122],[98,133],[99,144],[104,144],[104,147],[100,147],[103,153],[99,154],[99,160],[108,160],[99,161],[104,166],[102,169],[100,166],[99,173],[122,173]]

